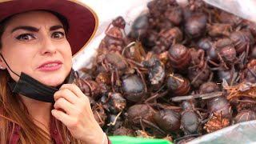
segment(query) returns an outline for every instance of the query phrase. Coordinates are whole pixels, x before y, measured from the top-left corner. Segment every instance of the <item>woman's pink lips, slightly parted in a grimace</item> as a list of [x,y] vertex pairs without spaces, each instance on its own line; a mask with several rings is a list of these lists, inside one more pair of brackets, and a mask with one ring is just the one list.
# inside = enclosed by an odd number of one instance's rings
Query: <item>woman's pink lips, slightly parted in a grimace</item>
[[53,70],[58,70],[62,67],[62,62],[60,61],[48,61],[42,63],[41,66],[38,67],[39,70],[43,71],[53,71]]

